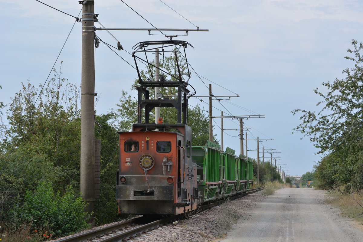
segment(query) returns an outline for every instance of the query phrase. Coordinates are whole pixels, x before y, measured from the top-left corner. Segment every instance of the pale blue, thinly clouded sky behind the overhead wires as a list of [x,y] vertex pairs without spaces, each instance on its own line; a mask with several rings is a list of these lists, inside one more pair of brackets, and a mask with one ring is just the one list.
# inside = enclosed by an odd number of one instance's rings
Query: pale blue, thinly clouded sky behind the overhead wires
[[[78,16],[82,5],[76,0],[42,0],[56,9]],[[194,49],[187,49],[192,73],[189,83],[196,95],[208,95],[205,85],[212,83],[214,95],[238,94],[239,98],[213,101],[213,115],[265,115],[263,119],[244,120],[248,139],[265,139],[262,147],[274,149],[273,157],[289,175],[313,171],[321,159],[309,138],[293,132],[299,116],[296,108],[317,111],[321,101],[313,92],[324,91],[322,82],[342,79],[352,61],[344,59],[353,39],[363,42],[363,2],[359,0],[124,0],[156,28],[208,29],[208,32],[167,32],[178,34]],[[164,4],[165,3],[165,4]],[[82,24],[35,0],[0,0],[3,27],[0,38],[0,101],[11,102],[21,83],[44,84],[53,64],[62,63],[62,77],[81,83]],[[168,6],[170,7],[168,7]],[[154,28],[120,0],[95,0],[95,13],[106,28]],[[175,11],[173,11],[172,9]],[[189,22],[190,21],[190,22]],[[74,28],[72,32],[72,26]],[[100,27],[98,23],[95,26]],[[158,32],[113,31],[113,36],[128,52],[141,41],[166,40]],[[117,46],[106,31],[97,31],[103,41]],[[118,54],[134,65],[126,52]],[[102,43],[95,53],[95,109],[105,114],[117,108],[122,90],[130,91],[137,73],[128,63]],[[52,77],[52,75],[50,76]],[[212,81],[212,82],[210,82]],[[223,88],[224,87],[224,88]],[[131,92],[137,95],[136,91]],[[191,98],[189,104],[208,110],[207,98]],[[207,115],[207,113],[206,113]],[[220,119],[213,120],[214,134],[221,138]],[[224,119],[224,128],[239,128],[237,119]],[[224,131],[224,148],[239,154],[239,131]],[[273,140],[270,140],[273,139]],[[248,141],[248,156],[257,157],[257,141]],[[245,149],[245,148],[244,148]],[[264,155],[270,161],[271,155]],[[281,157],[281,158],[280,158]],[[274,162],[273,158],[273,162]],[[280,160],[281,159],[281,160]]]

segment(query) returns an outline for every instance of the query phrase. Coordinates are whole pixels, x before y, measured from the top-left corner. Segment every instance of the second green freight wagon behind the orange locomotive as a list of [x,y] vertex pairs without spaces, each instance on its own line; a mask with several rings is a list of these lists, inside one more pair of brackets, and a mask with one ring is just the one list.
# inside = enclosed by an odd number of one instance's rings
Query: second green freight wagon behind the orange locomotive
[[223,196],[234,195],[236,193],[236,173],[237,163],[234,158],[236,151],[229,147],[222,153],[222,184],[223,184]]

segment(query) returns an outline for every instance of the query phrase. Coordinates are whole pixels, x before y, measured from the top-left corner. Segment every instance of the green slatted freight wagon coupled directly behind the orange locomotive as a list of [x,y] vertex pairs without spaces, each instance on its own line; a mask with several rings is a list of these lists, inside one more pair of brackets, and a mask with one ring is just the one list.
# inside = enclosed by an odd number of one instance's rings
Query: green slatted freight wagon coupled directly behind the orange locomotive
[[220,198],[221,147],[207,141],[205,146],[192,146],[192,161],[197,164],[197,182],[201,202]]

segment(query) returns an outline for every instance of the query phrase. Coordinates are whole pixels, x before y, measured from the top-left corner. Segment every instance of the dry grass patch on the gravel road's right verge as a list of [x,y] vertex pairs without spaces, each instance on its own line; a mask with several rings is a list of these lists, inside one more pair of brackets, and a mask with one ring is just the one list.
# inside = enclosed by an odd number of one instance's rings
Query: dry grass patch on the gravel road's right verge
[[338,208],[345,217],[363,224],[363,194],[327,193],[326,202]]

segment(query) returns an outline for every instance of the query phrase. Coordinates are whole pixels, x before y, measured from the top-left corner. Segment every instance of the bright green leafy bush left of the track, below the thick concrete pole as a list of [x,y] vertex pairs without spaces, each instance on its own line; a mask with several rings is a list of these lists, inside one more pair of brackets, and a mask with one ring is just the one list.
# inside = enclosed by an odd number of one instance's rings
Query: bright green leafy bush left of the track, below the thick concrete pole
[[65,194],[54,193],[50,182],[42,181],[34,191],[25,192],[23,206],[20,202],[14,207],[15,223],[32,221],[32,231],[49,227],[53,235],[66,235],[89,227],[90,215],[85,211],[86,203],[76,196],[72,187]]

